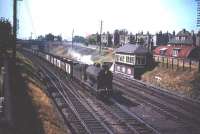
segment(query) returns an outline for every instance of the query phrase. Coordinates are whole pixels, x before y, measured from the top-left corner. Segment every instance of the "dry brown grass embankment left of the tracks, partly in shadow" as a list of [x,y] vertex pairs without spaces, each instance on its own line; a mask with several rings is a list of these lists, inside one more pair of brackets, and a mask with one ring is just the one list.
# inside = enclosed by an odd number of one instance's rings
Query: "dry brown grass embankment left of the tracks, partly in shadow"
[[17,128],[21,134],[67,134],[64,124],[53,101],[45,92],[37,76],[37,68],[27,58],[17,54],[18,98]]

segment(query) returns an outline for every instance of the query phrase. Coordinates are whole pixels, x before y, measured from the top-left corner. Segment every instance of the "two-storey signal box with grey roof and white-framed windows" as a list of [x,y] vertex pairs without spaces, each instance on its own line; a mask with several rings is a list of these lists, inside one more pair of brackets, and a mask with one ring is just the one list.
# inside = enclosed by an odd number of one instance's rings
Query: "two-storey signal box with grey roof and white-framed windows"
[[126,44],[115,53],[114,72],[132,78],[140,78],[151,64],[147,48],[140,44]]

